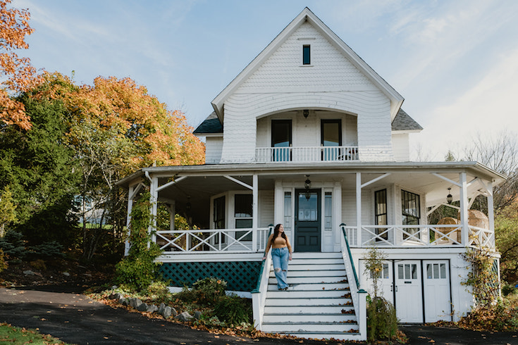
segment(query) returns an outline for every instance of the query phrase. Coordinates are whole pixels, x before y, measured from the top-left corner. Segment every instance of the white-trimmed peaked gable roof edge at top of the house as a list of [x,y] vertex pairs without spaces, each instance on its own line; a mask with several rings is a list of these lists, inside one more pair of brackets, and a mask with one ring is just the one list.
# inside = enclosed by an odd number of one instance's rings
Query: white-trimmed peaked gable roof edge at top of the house
[[278,49],[280,45],[282,45],[295,30],[300,27],[303,23],[308,22],[313,25],[316,30],[319,30],[323,37],[326,37],[336,49],[342,52],[342,54],[356,67],[360,70],[366,77],[371,80],[371,82],[378,87],[383,94],[385,94],[388,99],[390,99],[390,118],[394,119],[397,111],[400,109],[401,104],[403,103],[403,97],[393,89],[393,87],[388,84],[385,80],[383,80],[376,71],[374,71],[369,65],[365,63],[351,48],[347,46],[345,42],[340,39],[326,24],[324,24],[309,8],[304,8],[302,12],[295,17],[294,20],[288,24],[287,27],[284,28],[283,31],[280,32],[279,35],[266,48],[259,53],[254,60],[245,67],[241,73],[227,85],[223,91],[216,96],[216,98],[211,102],[214,111],[216,111],[216,115],[223,123],[223,105],[228,99],[228,97],[241,86],[243,82],[245,82],[261,65],[266,61],[273,52]]

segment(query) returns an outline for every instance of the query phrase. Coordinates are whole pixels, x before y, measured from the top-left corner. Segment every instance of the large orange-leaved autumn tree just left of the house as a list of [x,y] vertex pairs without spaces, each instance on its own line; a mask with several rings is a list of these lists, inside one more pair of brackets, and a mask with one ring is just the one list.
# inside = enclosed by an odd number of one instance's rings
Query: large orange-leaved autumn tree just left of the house
[[203,163],[204,145],[183,113],[129,78],[76,86],[59,73],[44,77],[39,97],[61,100],[68,111],[66,143],[82,175],[82,247],[90,260],[104,239],[125,234],[126,192],[115,182],[144,166]]

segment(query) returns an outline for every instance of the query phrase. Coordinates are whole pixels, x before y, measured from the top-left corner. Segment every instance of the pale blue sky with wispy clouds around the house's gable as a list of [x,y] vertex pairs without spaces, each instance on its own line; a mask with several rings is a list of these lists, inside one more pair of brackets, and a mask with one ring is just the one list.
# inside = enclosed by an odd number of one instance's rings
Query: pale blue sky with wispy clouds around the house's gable
[[130,77],[197,127],[211,101],[307,6],[404,98],[414,159],[518,135],[515,0],[13,0],[20,56],[78,84]]

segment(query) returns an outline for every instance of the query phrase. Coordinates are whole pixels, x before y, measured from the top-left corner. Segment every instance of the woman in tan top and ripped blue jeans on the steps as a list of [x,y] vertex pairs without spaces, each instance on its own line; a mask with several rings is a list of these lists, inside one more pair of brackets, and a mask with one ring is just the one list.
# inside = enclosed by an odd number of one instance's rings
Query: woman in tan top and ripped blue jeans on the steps
[[273,234],[268,237],[263,260],[266,259],[270,247],[273,269],[275,270],[275,277],[277,278],[277,287],[279,290],[288,290],[288,260],[292,259],[292,249],[290,240],[284,233],[282,224],[276,225],[273,229]]

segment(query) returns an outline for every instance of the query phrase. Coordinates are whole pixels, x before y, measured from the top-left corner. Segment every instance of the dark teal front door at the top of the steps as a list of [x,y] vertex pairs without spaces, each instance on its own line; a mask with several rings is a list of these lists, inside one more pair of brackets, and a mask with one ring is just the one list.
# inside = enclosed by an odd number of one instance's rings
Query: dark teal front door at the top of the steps
[[295,250],[321,251],[320,190],[295,191]]

